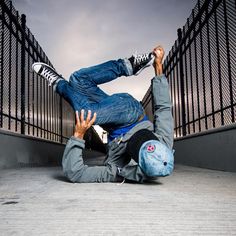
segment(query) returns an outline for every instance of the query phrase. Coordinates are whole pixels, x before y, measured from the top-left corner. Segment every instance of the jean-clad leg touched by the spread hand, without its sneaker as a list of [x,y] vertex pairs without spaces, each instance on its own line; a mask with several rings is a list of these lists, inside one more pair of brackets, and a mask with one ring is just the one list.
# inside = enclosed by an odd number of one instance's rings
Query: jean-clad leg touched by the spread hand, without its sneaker
[[75,111],[84,109],[96,112],[95,124],[101,125],[106,130],[132,124],[143,114],[141,104],[126,93],[106,95],[101,101],[95,102],[78,92],[66,80],[58,81],[56,91],[71,104]]

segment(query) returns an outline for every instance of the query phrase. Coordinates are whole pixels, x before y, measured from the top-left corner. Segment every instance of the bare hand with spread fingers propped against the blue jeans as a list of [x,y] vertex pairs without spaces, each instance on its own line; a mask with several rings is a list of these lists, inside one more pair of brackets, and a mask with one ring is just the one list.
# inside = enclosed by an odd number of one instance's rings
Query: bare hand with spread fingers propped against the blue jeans
[[86,120],[84,120],[84,110],[81,110],[80,116],[79,112],[75,112],[76,117],[76,125],[75,125],[75,132],[74,137],[83,139],[86,131],[93,125],[96,120],[97,114],[93,114],[93,118],[91,119],[92,112],[89,110]]

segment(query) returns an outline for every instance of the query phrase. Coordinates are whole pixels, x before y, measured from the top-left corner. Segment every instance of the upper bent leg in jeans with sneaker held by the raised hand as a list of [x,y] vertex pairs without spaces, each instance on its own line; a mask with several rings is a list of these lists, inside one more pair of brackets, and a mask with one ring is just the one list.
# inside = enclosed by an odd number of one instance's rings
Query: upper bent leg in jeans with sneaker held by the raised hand
[[74,72],[69,82],[78,92],[87,96],[90,101],[100,102],[107,97],[107,94],[97,85],[110,82],[120,76],[137,75],[151,65],[153,59],[152,53],[147,53],[136,54],[129,59],[111,60]]

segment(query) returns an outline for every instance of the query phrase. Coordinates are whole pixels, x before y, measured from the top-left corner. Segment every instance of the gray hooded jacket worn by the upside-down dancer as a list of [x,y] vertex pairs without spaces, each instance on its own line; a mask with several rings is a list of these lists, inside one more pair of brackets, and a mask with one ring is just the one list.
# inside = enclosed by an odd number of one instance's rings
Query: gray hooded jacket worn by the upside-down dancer
[[157,139],[168,148],[173,147],[173,117],[169,85],[164,75],[152,80],[154,102],[154,127],[150,121],[138,123],[123,137],[116,138],[108,144],[108,153],[104,166],[84,165],[82,151],[85,141],[71,137],[66,145],[62,167],[65,176],[72,182],[117,182],[121,177],[142,183],[149,179],[138,163],[126,156],[126,146],[131,136],[141,129],[153,131]]

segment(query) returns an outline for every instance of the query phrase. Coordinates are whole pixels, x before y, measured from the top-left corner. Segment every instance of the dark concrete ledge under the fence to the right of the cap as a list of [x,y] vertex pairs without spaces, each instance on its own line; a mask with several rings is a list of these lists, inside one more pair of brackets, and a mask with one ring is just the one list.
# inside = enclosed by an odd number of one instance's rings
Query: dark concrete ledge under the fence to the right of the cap
[[175,140],[176,163],[236,172],[236,124]]

